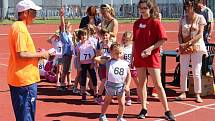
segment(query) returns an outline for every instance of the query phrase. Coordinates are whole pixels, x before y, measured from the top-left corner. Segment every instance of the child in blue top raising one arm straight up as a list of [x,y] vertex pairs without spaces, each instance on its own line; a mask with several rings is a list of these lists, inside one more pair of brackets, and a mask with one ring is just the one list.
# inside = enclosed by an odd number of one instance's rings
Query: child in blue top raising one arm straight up
[[[69,21],[64,20],[64,9],[60,10],[61,27],[60,27],[60,39],[63,42],[63,74],[62,74],[62,88],[68,90],[72,89],[71,82],[71,69],[72,69],[72,54],[74,52],[74,47],[72,43],[71,35],[71,24]],[[67,80],[67,83],[66,83]]]

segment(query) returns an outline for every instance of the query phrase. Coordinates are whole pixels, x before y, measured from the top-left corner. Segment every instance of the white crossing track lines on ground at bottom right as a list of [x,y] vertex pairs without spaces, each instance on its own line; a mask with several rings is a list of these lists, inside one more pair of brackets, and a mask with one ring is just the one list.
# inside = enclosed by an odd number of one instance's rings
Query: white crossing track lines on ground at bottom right
[[[212,104],[208,104],[208,105],[203,105],[203,106],[197,106],[197,105],[193,105],[193,104],[188,104],[188,103],[184,103],[184,102],[175,102],[175,103],[178,103],[178,104],[183,104],[183,105],[189,105],[189,106],[192,106],[194,107],[193,109],[190,109],[190,110],[187,110],[187,111],[183,111],[181,113],[178,113],[178,114],[175,114],[175,117],[178,117],[178,116],[181,116],[181,115],[185,115],[185,114],[188,114],[188,113],[191,113],[191,112],[194,112],[196,110],[199,110],[199,109],[212,109],[212,110],[215,110],[214,108],[210,108],[209,106],[214,106],[215,103],[212,103]],[[158,120],[155,120],[155,121],[163,121],[165,119],[158,119]]]

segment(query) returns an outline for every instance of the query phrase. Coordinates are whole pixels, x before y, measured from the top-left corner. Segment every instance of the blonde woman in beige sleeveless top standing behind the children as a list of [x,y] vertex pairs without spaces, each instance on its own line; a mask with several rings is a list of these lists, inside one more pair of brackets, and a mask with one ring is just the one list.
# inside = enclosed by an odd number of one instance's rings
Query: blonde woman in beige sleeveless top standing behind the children
[[118,33],[118,21],[114,18],[115,11],[108,4],[102,4],[100,9],[101,15],[103,17],[101,28],[107,29],[110,32],[111,41],[115,42]]

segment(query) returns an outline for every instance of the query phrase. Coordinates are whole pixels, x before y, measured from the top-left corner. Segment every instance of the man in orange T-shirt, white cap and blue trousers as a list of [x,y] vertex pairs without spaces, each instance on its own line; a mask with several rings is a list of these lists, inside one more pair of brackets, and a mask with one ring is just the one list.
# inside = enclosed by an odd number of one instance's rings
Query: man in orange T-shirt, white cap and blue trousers
[[36,52],[27,29],[40,9],[31,0],[20,1],[16,5],[18,20],[9,32],[8,84],[16,121],[35,120],[37,82],[40,81],[38,60],[53,54]]

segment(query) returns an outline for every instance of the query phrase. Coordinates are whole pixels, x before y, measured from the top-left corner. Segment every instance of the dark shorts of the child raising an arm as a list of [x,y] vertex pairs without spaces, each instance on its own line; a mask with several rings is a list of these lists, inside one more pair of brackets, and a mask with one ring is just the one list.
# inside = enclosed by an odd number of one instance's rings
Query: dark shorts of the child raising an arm
[[72,64],[71,64],[72,56],[63,56],[63,73],[67,74],[68,72],[72,71]]

